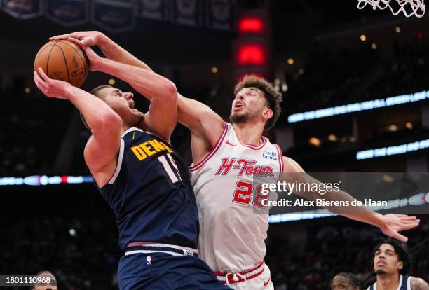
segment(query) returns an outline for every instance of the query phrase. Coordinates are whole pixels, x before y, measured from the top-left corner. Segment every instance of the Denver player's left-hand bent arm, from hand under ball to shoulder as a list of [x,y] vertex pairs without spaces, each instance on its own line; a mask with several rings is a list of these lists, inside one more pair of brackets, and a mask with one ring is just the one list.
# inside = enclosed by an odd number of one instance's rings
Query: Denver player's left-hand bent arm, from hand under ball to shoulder
[[93,135],[86,144],[84,156],[98,186],[109,181],[116,167],[116,154],[121,142],[122,120],[105,102],[65,81],[49,78],[39,69],[34,82],[47,97],[69,99],[81,111]]

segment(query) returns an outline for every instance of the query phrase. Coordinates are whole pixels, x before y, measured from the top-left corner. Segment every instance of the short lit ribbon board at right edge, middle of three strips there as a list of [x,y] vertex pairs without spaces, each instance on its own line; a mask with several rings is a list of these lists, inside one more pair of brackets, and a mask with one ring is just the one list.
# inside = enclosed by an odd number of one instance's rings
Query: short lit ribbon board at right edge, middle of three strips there
[[356,160],[405,154],[429,148],[429,139],[390,147],[368,149],[356,153]]

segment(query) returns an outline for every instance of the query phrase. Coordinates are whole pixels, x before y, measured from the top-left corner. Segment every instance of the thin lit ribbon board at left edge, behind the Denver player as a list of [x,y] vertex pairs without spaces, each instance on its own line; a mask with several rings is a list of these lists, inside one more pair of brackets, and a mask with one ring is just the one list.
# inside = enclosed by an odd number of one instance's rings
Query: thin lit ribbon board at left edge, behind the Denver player
[[51,184],[90,184],[94,179],[87,176],[55,175],[48,177],[46,175],[31,175],[29,177],[0,177],[0,186],[46,186]]

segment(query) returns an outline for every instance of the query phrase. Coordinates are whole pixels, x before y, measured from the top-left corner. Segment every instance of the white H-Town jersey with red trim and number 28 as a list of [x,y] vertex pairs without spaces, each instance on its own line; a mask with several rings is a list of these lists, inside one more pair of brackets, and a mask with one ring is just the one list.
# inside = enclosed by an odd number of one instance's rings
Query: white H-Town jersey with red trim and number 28
[[214,149],[189,170],[200,218],[200,257],[217,272],[240,272],[261,263],[268,214],[254,212],[264,196],[258,198],[253,174],[282,172],[280,147],[265,137],[259,146],[241,144],[226,123]]

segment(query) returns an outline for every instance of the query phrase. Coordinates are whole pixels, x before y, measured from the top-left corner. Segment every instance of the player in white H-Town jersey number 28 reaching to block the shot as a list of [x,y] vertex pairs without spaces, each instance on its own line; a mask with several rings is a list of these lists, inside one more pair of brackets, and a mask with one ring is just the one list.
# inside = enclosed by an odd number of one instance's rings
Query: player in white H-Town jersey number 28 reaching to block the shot
[[[151,70],[100,32],[74,32],[50,39],[69,37],[84,46],[99,46],[111,60]],[[262,136],[278,119],[280,102],[281,95],[270,83],[247,77],[236,86],[231,123],[227,123],[205,104],[178,95],[179,122],[192,134],[190,170],[200,217],[198,251],[218,279],[233,289],[273,289],[264,263],[268,214],[254,214],[259,204],[252,198],[253,174],[304,172]],[[366,214],[346,216],[378,226],[400,240],[407,238],[398,231],[418,225],[414,216],[361,212]]]

